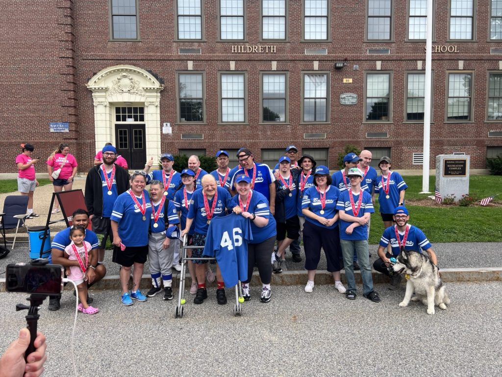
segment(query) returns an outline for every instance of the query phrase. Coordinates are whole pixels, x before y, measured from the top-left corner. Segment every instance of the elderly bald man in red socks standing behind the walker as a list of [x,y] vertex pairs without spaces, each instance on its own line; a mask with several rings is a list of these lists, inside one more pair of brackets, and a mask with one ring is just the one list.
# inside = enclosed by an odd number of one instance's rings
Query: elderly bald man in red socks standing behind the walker
[[[193,246],[204,246],[207,229],[211,223],[211,219],[217,216],[225,216],[225,209],[229,208],[230,193],[223,187],[216,185],[216,180],[210,174],[202,177],[202,190],[197,190],[192,196],[190,201],[190,208],[188,210],[185,229],[183,229],[181,236],[190,232],[192,223],[194,224],[194,232],[192,236]],[[192,258],[202,258],[203,250],[193,249]],[[206,263],[207,259],[198,259],[193,261],[195,264],[195,275],[197,276],[198,288],[194,304],[202,304],[207,299],[206,290]],[[226,304],[225,296],[225,283],[221,276],[221,271],[216,263],[216,300],[219,305]]]

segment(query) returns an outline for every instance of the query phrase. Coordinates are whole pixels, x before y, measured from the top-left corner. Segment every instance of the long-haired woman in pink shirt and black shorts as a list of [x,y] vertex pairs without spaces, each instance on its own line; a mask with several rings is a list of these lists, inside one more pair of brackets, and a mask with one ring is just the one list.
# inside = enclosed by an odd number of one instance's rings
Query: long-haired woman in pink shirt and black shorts
[[[61,172],[57,179],[52,177],[52,172],[61,168]],[[54,185],[54,192],[60,193],[63,191],[71,190],[73,186],[73,178],[77,174],[77,160],[70,154],[70,146],[62,143],[47,159],[47,171],[49,172],[49,179]],[[58,201],[54,202],[52,213],[59,212]]]

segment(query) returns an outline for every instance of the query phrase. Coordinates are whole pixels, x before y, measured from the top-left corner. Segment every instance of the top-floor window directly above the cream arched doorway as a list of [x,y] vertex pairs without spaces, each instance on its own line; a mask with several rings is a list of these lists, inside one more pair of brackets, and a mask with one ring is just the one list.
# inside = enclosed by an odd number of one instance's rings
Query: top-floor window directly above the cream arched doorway
[[111,0],[111,39],[138,39],[137,0]]

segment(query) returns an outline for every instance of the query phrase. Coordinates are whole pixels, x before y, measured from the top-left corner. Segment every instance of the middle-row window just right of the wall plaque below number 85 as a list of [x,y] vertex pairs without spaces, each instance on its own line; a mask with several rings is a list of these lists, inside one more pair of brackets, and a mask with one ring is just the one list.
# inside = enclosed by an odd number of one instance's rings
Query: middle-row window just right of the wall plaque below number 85
[[391,74],[366,74],[366,114],[368,122],[392,120],[391,117]]

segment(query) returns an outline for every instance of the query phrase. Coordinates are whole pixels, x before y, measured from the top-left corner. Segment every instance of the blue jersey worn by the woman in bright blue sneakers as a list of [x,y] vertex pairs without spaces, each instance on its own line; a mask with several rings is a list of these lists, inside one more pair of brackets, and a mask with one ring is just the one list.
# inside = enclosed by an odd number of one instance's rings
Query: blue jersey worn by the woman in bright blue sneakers
[[[118,196],[110,220],[118,223],[118,236],[124,245],[130,247],[145,246],[148,245],[148,228],[150,226],[149,219],[152,217],[152,203],[150,203],[148,191],[143,190],[146,202],[145,217],[147,218],[147,220],[143,220],[143,215],[129,192],[128,190]],[[142,205],[141,198],[136,197],[136,199]]]

